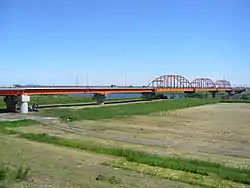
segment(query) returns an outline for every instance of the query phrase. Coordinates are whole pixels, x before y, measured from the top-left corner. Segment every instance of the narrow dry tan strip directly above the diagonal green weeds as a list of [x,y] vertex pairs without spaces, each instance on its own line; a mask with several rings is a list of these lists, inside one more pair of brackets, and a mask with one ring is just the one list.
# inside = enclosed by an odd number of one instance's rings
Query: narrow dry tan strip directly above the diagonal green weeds
[[103,147],[120,148],[122,146],[123,148],[145,151],[148,153],[154,153],[162,156],[181,156],[184,158],[196,158],[204,161],[222,163],[227,166],[250,168],[250,158],[241,158],[230,155],[213,154],[207,152],[186,151],[171,147],[150,146],[139,143],[117,141],[115,139],[92,137],[88,135],[83,136],[82,134],[66,132],[63,130],[59,130],[57,128],[51,129],[50,127],[47,126],[40,126],[40,127],[31,126],[25,128],[23,127],[23,128],[18,128],[18,130],[25,133],[47,133],[62,138],[72,139],[79,143],[80,142],[92,143],[94,145],[101,145]]

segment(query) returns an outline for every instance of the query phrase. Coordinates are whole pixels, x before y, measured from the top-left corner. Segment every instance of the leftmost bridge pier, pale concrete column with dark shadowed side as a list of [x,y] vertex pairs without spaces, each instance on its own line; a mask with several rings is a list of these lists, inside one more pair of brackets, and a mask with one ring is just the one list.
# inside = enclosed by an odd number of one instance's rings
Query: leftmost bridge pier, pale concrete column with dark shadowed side
[[17,106],[19,106],[20,113],[28,113],[29,101],[30,96],[27,95],[4,97],[7,112],[17,112]]

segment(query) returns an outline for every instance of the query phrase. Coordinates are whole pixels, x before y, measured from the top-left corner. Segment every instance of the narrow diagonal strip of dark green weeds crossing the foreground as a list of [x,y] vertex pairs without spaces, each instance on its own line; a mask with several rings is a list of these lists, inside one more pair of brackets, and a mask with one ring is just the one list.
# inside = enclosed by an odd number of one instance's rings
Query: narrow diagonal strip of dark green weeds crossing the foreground
[[38,142],[52,143],[61,146],[88,150],[100,154],[108,154],[126,158],[127,161],[173,170],[180,170],[204,176],[217,176],[224,180],[250,185],[250,170],[226,167],[217,163],[177,157],[161,157],[140,151],[120,148],[105,148],[90,143],[78,143],[73,140],[50,136],[48,134],[21,134],[23,138]]

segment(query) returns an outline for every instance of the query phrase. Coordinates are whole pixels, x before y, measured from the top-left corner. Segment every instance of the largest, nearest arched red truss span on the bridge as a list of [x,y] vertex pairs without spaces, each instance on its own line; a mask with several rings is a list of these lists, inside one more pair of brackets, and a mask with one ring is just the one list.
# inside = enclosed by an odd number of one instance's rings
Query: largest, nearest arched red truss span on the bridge
[[154,88],[189,88],[190,82],[181,75],[163,75],[149,83]]

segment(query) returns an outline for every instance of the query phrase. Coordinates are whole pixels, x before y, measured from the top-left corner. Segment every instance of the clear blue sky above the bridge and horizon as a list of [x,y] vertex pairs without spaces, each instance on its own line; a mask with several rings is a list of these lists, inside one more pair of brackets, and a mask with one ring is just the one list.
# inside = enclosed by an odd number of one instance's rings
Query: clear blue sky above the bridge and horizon
[[0,63],[0,85],[250,85],[250,1],[0,0]]

